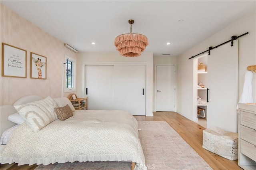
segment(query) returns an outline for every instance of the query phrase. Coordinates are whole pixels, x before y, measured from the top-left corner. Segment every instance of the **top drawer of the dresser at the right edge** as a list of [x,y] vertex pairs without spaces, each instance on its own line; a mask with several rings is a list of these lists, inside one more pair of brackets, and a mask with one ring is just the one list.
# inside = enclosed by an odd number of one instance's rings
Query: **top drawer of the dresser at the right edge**
[[240,111],[241,125],[256,130],[256,115],[245,111]]

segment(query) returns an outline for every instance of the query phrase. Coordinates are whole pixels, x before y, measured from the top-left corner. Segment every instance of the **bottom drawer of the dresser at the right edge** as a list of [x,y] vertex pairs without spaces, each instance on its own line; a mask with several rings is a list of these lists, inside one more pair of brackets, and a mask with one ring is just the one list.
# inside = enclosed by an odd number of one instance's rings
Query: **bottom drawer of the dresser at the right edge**
[[240,141],[241,153],[256,161],[256,146],[242,139]]

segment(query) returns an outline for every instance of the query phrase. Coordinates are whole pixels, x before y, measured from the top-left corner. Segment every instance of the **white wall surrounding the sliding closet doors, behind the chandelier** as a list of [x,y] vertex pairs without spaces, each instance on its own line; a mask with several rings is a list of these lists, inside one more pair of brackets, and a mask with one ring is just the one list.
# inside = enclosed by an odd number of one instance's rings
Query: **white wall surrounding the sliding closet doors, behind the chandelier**
[[[152,101],[153,101],[153,54],[143,52],[139,57],[123,57],[117,52],[80,52],[77,56],[77,95],[85,96],[84,90],[84,62],[98,63],[146,63],[146,116],[153,116]],[[88,99],[90,103],[90,99]]]

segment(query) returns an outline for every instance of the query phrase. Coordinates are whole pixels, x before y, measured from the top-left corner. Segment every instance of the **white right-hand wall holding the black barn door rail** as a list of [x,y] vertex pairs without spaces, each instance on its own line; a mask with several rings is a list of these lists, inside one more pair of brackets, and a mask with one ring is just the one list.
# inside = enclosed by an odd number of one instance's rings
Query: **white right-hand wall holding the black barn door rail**
[[[238,39],[238,99],[242,94],[247,66],[256,64],[256,14],[250,14],[207,38],[178,57],[177,65],[177,112],[193,120],[193,59],[188,59],[208,47],[219,45],[231,36],[249,34]],[[214,49],[213,49],[214,50]],[[256,102],[256,73],[252,83],[253,99]]]

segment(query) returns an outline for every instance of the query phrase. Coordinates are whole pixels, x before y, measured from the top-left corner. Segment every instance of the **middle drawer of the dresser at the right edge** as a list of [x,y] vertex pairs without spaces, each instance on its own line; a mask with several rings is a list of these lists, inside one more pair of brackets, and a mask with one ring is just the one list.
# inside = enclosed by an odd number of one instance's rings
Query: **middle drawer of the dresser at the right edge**
[[254,144],[256,146],[256,130],[241,125],[240,127],[241,139]]

